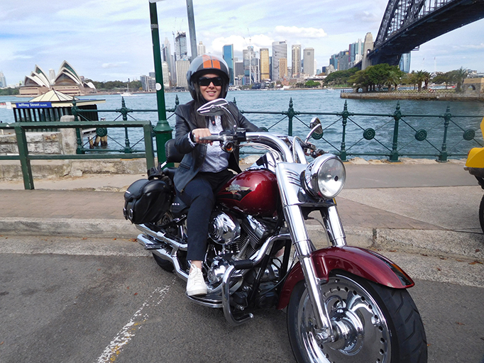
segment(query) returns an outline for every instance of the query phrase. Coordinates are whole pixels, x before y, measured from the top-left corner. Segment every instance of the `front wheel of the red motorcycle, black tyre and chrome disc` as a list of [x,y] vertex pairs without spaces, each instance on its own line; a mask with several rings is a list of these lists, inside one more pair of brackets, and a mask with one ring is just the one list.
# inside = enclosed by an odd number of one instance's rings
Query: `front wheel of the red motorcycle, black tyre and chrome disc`
[[304,281],[292,291],[287,329],[297,362],[426,363],[424,325],[405,289],[390,289],[346,272],[321,285],[335,342],[317,340]]

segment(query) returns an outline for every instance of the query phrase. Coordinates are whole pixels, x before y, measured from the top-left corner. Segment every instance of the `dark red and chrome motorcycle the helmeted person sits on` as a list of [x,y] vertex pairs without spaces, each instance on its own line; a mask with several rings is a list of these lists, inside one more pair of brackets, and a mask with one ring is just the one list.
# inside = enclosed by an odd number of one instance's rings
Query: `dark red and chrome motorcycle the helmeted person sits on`
[[[226,106],[217,99],[197,112],[233,117]],[[310,126],[305,140],[241,129],[206,138],[226,152],[266,153],[216,195],[202,268],[208,294],[188,298],[222,308],[231,325],[260,308],[285,309],[299,363],[427,362],[424,325],[407,291],[414,281],[386,257],[347,245],[335,201],[345,167],[309,143],[322,134],[317,118]],[[172,144],[165,145],[167,162],[180,162]],[[155,262],[186,281],[187,207],[172,186],[175,171],[161,165],[151,180],[133,183],[124,213]],[[309,238],[304,220],[312,212],[321,216],[329,247],[317,250]]]

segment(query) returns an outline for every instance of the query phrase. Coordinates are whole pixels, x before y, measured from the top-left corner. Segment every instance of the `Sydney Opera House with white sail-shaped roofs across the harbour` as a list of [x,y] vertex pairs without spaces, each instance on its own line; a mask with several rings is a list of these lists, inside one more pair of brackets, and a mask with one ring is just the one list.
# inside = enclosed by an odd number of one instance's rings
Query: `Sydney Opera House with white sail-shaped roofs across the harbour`
[[20,88],[20,96],[39,96],[50,90],[60,91],[70,96],[82,96],[96,93],[92,82],[84,82],[75,69],[66,61],[62,62],[57,74],[49,74],[35,65],[35,70],[26,76]]

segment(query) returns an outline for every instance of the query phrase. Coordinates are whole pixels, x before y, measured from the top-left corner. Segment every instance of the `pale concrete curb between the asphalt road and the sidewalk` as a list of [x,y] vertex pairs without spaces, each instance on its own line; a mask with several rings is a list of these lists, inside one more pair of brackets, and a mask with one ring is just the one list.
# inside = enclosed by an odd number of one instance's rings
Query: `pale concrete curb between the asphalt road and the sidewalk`
[[[326,233],[320,225],[306,225],[317,248],[326,247]],[[87,238],[136,238],[140,231],[121,219],[87,218],[0,218],[3,235]],[[397,250],[424,256],[456,256],[484,261],[481,233],[453,230],[410,230],[345,227],[348,245],[372,250]],[[321,238],[322,237],[322,238]]]

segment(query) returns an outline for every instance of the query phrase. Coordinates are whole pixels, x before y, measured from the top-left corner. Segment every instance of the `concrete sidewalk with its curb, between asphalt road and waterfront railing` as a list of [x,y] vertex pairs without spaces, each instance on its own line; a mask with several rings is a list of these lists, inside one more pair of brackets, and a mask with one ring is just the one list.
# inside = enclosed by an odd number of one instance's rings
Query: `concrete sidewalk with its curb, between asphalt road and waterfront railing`
[[[463,162],[348,163],[346,170],[337,201],[348,244],[484,261],[483,190]],[[38,179],[33,191],[22,181],[0,181],[0,234],[136,238],[123,218],[123,191],[145,177]],[[316,245],[326,244],[319,223],[307,228]]]

